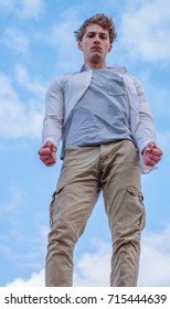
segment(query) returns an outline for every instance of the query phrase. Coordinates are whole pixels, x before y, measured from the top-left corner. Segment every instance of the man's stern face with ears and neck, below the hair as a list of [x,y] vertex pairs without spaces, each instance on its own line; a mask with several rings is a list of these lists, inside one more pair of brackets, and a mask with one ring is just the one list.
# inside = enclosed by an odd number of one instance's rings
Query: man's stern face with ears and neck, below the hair
[[108,31],[98,24],[88,25],[83,40],[78,42],[78,49],[83,52],[86,64],[106,67],[106,55],[111,51]]

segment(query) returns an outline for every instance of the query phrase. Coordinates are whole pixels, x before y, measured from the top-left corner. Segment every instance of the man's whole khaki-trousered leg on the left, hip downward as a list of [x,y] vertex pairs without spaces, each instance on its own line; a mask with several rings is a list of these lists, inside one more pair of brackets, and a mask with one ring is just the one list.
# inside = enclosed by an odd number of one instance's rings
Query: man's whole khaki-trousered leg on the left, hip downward
[[51,203],[46,286],[72,286],[73,251],[99,194],[95,148],[73,147]]

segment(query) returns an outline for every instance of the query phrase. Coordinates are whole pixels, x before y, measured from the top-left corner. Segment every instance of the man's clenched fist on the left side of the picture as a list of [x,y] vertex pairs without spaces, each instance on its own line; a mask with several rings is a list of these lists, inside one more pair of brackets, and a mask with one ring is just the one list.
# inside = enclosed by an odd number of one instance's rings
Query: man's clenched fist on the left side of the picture
[[38,151],[40,160],[46,166],[52,167],[56,163],[56,147],[52,141],[46,141]]

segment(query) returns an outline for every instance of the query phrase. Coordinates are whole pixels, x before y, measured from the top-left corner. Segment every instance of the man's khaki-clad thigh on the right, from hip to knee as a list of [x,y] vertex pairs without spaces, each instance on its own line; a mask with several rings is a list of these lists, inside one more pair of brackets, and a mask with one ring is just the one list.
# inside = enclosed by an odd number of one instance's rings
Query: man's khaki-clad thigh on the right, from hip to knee
[[117,238],[119,234],[141,231],[146,214],[138,152],[134,143],[126,140],[120,142],[114,156],[103,193],[113,238]]

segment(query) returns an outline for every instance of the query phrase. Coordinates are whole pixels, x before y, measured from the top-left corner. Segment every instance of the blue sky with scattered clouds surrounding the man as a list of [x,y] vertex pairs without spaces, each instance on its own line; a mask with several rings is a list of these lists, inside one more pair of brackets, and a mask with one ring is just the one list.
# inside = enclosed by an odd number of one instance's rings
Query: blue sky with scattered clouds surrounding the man
[[[170,286],[170,10],[168,0],[0,0],[0,286],[44,286],[49,204],[61,161],[44,167],[44,96],[54,76],[78,71],[73,31],[103,12],[117,41],[108,65],[124,65],[150,100],[159,169],[142,177],[147,226],[139,286]],[[110,235],[103,199],[75,249],[75,286],[109,285]]]

